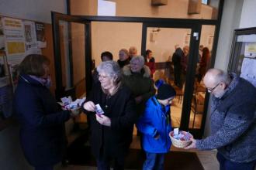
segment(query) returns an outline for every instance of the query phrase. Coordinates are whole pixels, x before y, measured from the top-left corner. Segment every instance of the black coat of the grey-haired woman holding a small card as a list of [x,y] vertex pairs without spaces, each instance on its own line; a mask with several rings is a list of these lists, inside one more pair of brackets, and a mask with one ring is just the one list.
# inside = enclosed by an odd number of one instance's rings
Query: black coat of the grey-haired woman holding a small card
[[105,115],[111,120],[111,127],[101,125],[96,121],[95,112],[85,110],[90,121],[92,154],[95,158],[126,155],[133,139],[133,124],[137,121],[135,100],[130,90],[122,86],[112,97],[107,97],[100,83],[97,83],[86,101],[100,104]]

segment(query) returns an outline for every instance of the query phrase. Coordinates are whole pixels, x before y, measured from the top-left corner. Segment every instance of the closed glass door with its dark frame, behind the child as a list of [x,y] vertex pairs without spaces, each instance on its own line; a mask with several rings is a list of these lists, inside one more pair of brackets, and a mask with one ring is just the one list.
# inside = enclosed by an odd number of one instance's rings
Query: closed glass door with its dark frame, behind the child
[[[163,79],[176,90],[171,105],[174,128],[195,133],[189,126],[195,70],[199,56],[199,26],[177,24],[144,24],[142,53],[152,51],[156,63],[153,79]],[[204,127],[202,127],[204,128]]]

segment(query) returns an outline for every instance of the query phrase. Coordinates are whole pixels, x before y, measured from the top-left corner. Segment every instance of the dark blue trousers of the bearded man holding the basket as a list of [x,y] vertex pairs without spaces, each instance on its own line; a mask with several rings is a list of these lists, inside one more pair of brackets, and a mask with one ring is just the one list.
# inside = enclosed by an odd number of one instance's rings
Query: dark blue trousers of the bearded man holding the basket
[[216,157],[220,162],[220,170],[254,170],[256,165],[256,160],[247,163],[231,162],[223,157],[223,155],[221,155],[219,152],[217,153]]

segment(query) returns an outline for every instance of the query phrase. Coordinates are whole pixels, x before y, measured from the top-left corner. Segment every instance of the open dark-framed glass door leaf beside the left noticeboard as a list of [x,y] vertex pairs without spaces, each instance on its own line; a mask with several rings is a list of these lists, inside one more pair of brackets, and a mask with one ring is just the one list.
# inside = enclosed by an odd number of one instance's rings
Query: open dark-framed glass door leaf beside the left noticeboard
[[90,22],[52,12],[56,98],[85,96],[91,87]]

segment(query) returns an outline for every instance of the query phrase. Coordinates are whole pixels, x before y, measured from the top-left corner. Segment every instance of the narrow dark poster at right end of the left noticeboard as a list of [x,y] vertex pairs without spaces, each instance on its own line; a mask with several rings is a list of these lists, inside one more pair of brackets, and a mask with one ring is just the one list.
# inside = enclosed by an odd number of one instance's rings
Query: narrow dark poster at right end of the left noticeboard
[[47,41],[45,39],[45,29],[43,22],[36,22],[36,40],[38,48],[46,48]]

